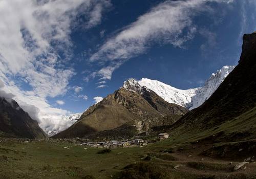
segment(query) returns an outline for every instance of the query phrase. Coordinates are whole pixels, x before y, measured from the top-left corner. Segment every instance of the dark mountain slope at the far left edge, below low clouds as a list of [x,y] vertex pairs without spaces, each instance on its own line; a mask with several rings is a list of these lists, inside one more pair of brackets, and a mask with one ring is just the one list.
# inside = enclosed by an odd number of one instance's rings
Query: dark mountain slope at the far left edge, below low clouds
[[46,134],[14,100],[0,97],[0,131],[15,138],[42,139]]

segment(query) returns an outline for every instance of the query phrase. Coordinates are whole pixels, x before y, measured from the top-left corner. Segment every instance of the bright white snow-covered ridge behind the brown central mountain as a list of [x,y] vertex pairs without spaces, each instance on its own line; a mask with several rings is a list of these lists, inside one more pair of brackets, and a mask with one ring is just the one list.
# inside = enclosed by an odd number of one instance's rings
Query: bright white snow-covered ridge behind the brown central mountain
[[203,104],[233,69],[234,66],[223,66],[221,70],[212,74],[203,86],[186,90],[147,78],[142,78],[138,81],[131,78],[124,82],[123,87],[130,91],[140,92],[142,86],[145,86],[165,101],[181,105],[191,110]]

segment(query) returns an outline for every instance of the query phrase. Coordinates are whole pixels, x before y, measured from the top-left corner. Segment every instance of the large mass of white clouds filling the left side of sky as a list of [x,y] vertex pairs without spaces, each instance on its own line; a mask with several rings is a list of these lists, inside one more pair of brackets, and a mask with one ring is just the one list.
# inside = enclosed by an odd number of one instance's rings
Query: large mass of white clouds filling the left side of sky
[[[72,124],[63,120],[69,111],[52,107],[46,99],[65,94],[75,75],[65,67],[72,56],[71,31],[81,23],[86,28],[99,24],[108,7],[108,0],[0,1],[2,95],[10,94],[46,132]],[[23,90],[19,82],[31,89]]]

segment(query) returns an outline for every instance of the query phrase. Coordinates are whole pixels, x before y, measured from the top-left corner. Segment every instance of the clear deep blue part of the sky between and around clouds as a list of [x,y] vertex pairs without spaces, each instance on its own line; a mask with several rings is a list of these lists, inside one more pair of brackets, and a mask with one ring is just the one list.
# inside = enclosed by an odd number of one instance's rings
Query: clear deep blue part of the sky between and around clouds
[[[202,13],[194,18],[201,32],[185,42],[184,47],[179,48],[174,47],[173,44],[156,42],[145,53],[122,64],[113,72],[111,80],[106,80],[106,86],[102,88],[97,88],[96,83],[99,82],[99,78],[91,79],[89,82],[81,80],[92,72],[91,69],[99,69],[98,65],[88,64],[90,53],[97,52],[97,47],[108,38],[161,2],[163,1],[147,0],[139,1],[139,3],[137,1],[112,1],[113,7],[104,14],[102,24],[86,32],[83,30],[73,32],[72,40],[77,45],[74,49],[76,55],[74,68],[80,74],[77,74],[70,84],[82,86],[84,89],[82,94],[86,94],[88,100],[76,101],[75,103],[79,103],[77,106],[72,102],[72,97],[64,98],[66,104],[63,107],[81,112],[94,103],[93,97],[105,97],[113,93],[124,80],[131,77],[156,79],[181,89],[198,87],[211,73],[216,72],[222,66],[237,64],[241,52],[242,12],[239,5],[233,7],[218,5],[220,9],[216,10],[215,17]],[[251,26],[252,28],[248,28],[247,32],[253,30],[253,24]],[[104,32],[103,36],[102,32]],[[81,57],[81,54],[89,55]],[[81,74],[84,71],[88,73]],[[61,96],[56,99],[63,100]],[[52,99],[53,102],[54,100]]]

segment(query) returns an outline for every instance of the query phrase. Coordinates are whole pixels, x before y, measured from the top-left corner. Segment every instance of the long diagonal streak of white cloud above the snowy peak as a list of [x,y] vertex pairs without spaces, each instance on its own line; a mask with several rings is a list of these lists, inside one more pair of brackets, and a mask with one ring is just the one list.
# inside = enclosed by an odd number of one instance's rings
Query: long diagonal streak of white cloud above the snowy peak
[[91,56],[92,62],[110,62],[110,65],[94,76],[111,79],[113,71],[123,62],[145,53],[154,43],[170,43],[174,47],[182,47],[197,31],[193,17],[202,11],[211,12],[209,2],[232,3],[228,0],[165,1],[141,15],[134,23],[105,41]]

